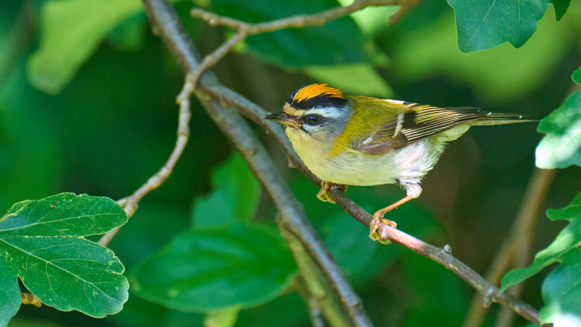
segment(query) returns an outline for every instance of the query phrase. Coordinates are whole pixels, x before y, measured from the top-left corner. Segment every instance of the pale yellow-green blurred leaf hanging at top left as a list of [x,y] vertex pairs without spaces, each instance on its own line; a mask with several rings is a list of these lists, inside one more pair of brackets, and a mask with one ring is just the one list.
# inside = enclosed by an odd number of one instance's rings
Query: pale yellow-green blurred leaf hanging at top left
[[107,33],[142,10],[139,0],[50,0],[41,10],[40,47],[28,61],[28,80],[57,94]]

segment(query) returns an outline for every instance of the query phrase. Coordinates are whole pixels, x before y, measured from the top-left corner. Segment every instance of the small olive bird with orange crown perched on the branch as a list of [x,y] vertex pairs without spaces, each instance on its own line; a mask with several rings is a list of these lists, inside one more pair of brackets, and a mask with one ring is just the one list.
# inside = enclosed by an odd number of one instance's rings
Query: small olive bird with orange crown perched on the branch
[[327,84],[299,88],[286,99],[282,113],[264,118],[286,127],[296,153],[323,181],[319,200],[333,202],[327,194],[330,183],[398,183],[406,189],[406,197],[375,212],[370,225],[372,240],[379,240],[381,222],[397,228],[383,216],[419,196],[422,177],[436,165],[447,142],[462,136],[472,125],[535,121],[477,108],[348,97]]

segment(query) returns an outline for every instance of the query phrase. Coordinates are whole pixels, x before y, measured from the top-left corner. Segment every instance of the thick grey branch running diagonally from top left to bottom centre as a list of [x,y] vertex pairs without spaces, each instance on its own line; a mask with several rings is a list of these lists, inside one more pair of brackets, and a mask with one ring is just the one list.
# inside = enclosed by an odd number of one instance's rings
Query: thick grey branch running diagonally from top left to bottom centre
[[[143,0],[143,2],[153,29],[163,38],[163,41],[174,55],[174,58],[180,63],[184,72],[191,74],[198,67],[199,56],[191,38],[181,26],[173,6],[167,0]],[[201,81],[207,84],[217,84],[213,74],[203,75]],[[347,282],[339,265],[333,260],[328,248],[319,239],[313,226],[310,225],[302,205],[296,200],[292,191],[282,179],[274,162],[272,162],[266,149],[254,135],[248,123],[235,111],[224,108],[220,99],[212,99],[209,94],[201,90],[196,91],[196,97],[200,99],[200,102],[202,102],[218,127],[230,136],[232,142],[236,145],[246,163],[248,163],[249,168],[270,194],[275,207],[278,209],[281,234],[295,236],[296,242],[293,242],[291,237],[287,239],[289,245],[300,244],[300,248],[303,248],[305,253],[305,255],[300,255],[299,251],[293,252],[295,259],[297,261],[304,260],[304,262],[312,261],[317,266],[317,269],[320,269],[324,279],[334,291],[327,293],[327,296],[333,297],[333,293],[336,293],[339,298],[338,301],[342,304],[345,312],[348,313],[350,319],[347,320],[347,325],[357,327],[372,326],[363,309],[361,299]],[[340,318],[340,316],[333,317],[331,313],[325,312],[325,317],[327,319]]]

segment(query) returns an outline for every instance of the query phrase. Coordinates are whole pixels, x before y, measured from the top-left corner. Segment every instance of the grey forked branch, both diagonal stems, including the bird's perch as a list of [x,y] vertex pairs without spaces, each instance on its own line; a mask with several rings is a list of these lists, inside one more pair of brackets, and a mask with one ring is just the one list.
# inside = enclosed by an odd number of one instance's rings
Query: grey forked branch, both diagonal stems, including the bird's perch
[[[143,1],[145,3],[150,22],[152,23],[154,30],[162,36],[163,40],[166,42],[166,45],[168,48],[170,48],[170,51],[174,54],[177,61],[182,65],[184,71],[189,72],[189,78],[191,78],[191,73],[194,72],[196,67],[198,67],[196,65],[197,54],[193,48],[191,39],[185,35],[184,31],[181,29],[181,26],[179,26],[174,9],[171,7],[171,5],[169,5],[169,3],[167,3],[166,0]],[[238,108],[243,115],[247,116],[249,119],[262,126],[267,131],[267,133],[272,134],[285,154],[288,155],[289,162],[305,173],[305,175],[309,177],[313,183],[315,183],[317,186],[320,186],[321,181],[315,177],[313,173],[309,171],[309,169],[306,168],[304,163],[296,155],[292,145],[290,145],[288,141],[288,138],[286,138],[284,135],[282,127],[276,123],[265,122],[263,117],[268,112],[263,108],[260,108],[260,106],[244,98],[242,95],[239,95],[238,93],[235,93],[234,91],[221,86],[210,74],[206,74],[202,79],[200,79],[200,85],[198,89],[196,89],[196,96],[203,103],[215,106],[214,109],[219,109],[222,106],[234,106],[235,108]],[[210,105],[207,105],[207,107],[210,107]],[[208,108],[206,108],[206,110],[208,110],[209,113],[211,112]],[[226,125],[224,120],[233,116],[236,117],[238,115],[236,115],[235,112],[223,112],[222,115],[216,115],[215,121],[219,127],[223,128],[222,126]],[[241,125],[234,124],[230,127],[242,128],[241,126],[243,126],[243,120],[240,120],[239,122]],[[232,130],[223,129],[223,131],[227,134],[233,133]],[[233,135],[234,134],[232,134],[232,137]],[[236,140],[236,138],[233,137],[232,141],[236,142],[240,140]],[[259,180],[263,183],[263,186],[267,188],[267,191],[271,195],[272,200],[275,202],[275,205],[277,205],[279,211],[279,225],[285,226],[288,230],[295,233],[295,235],[299,238],[300,243],[302,243],[306,248],[310,254],[310,257],[317,263],[321,271],[325,274],[325,278],[327,278],[331,285],[333,285],[336,292],[340,294],[342,302],[350,312],[350,317],[354,318],[353,321],[357,321],[357,317],[368,320],[366,315],[359,314],[364,312],[360,299],[353,292],[352,287],[346,282],[345,277],[343,276],[339,267],[336,266],[336,263],[329,255],[327,248],[322,246],[320,239],[318,239],[314,233],[312,226],[306,220],[306,216],[304,216],[302,210],[298,211],[298,207],[296,207],[297,203],[295,203],[296,198],[292,195],[292,193],[289,193],[290,190],[288,190],[288,186],[286,186],[284,182],[281,184],[276,180],[272,180],[270,177],[268,177],[280,176],[278,172],[272,170],[274,168],[267,167],[270,166],[271,159],[267,157],[264,157],[264,159],[261,160],[255,159],[258,153],[261,154],[262,152],[261,150],[259,152],[254,152],[255,150],[248,152],[248,149],[253,149],[253,147],[246,148],[246,145],[238,144],[238,148],[246,162],[249,164],[250,169],[258,175]],[[278,179],[278,177],[275,179]],[[350,200],[350,198],[346,196],[345,192],[338,186],[332,186],[328,193],[341,208],[356,218],[357,221],[363,223],[363,225],[367,227],[370,225],[371,215],[363,208],[359,207],[355,202],[353,202],[353,200]],[[300,206],[300,204],[298,205]],[[416,239],[413,236],[410,236],[383,223],[379,226],[378,234],[382,240],[393,241],[394,243],[407,247],[410,250],[424,255],[425,257],[428,257],[431,260],[436,261],[450,269],[456,273],[456,275],[460,276],[460,278],[466,280],[476,290],[484,294],[485,300],[488,303],[490,303],[490,301],[495,301],[497,303],[507,305],[507,307],[510,307],[512,310],[522,315],[522,317],[534,322],[537,325],[539,324],[539,312],[535,310],[535,308],[531,307],[529,304],[517,300],[516,298],[510,296],[510,294],[501,294],[497,287],[491,285],[482,276],[478,275],[478,273],[476,273],[474,270],[454,258],[450,253],[447,253],[441,248],[431,246],[424,241]],[[366,324],[358,325],[363,326]]]

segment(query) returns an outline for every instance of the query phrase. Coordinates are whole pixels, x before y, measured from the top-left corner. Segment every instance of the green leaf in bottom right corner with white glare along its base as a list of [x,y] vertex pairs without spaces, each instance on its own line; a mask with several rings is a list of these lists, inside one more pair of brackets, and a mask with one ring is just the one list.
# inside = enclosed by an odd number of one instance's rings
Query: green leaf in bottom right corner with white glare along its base
[[555,268],[543,281],[541,291],[545,306],[540,311],[540,321],[553,322],[555,326],[565,321],[576,321],[581,326],[581,249],[575,248],[563,255],[563,264]]

